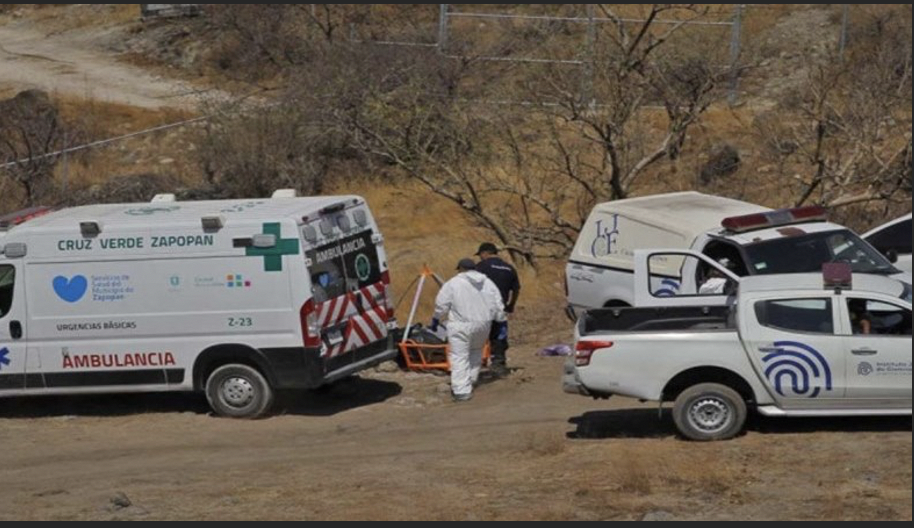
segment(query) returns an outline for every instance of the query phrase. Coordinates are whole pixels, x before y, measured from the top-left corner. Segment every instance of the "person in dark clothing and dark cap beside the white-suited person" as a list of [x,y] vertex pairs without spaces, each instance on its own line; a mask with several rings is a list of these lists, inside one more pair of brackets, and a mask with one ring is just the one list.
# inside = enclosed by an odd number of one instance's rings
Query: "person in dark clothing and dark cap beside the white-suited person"
[[[479,246],[476,252],[479,264],[476,271],[482,273],[495,283],[502,301],[505,303],[505,312],[514,313],[517,298],[520,295],[520,279],[514,266],[498,258],[498,247],[491,242]],[[492,372],[498,376],[508,374],[508,322],[494,322],[489,334],[489,344],[492,350]]]

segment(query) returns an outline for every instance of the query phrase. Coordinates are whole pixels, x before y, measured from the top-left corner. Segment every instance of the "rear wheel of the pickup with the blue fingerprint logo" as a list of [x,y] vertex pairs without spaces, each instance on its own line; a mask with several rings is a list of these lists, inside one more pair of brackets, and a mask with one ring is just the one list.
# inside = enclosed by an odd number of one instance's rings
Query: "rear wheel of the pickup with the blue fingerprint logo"
[[746,402],[735,390],[717,383],[689,387],[676,398],[673,421],[689,440],[733,438],[746,423]]

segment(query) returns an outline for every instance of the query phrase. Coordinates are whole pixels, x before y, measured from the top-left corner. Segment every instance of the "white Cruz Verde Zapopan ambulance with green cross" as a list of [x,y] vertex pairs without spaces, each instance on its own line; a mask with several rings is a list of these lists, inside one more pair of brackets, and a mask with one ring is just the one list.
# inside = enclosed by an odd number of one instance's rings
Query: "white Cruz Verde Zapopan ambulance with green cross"
[[260,416],[396,355],[389,284],[357,196],[49,213],[0,237],[0,396],[206,391]]

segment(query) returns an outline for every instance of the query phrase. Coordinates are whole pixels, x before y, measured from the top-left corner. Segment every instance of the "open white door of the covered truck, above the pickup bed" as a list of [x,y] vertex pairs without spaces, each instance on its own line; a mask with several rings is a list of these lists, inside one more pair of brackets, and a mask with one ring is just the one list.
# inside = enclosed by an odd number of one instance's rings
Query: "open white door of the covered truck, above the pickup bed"
[[[715,293],[701,293],[703,285],[696,285],[694,280],[684,277],[686,274],[694,276],[699,265],[717,272],[721,288]],[[635,306],[638,308],[726,306],[733,303],[739,281],[733,272],[696,251],[635,250]],[[669,286],[672,284],[675,287]]]

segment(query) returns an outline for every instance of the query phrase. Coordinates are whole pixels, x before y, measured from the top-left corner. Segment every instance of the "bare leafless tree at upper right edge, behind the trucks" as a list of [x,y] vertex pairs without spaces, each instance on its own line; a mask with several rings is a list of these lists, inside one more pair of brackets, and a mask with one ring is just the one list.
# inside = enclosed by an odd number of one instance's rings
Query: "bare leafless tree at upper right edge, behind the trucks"
[[813,60],[760,127],[795,203],[910,203],[911,89],[910,16],[870,19],[843,60]]

